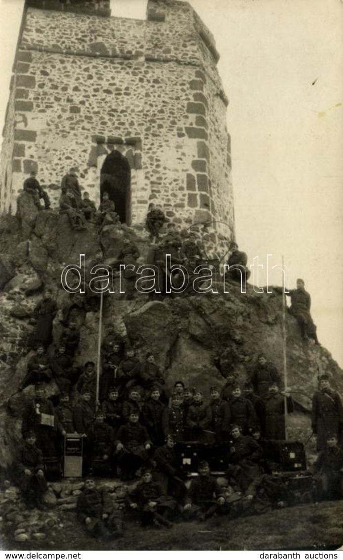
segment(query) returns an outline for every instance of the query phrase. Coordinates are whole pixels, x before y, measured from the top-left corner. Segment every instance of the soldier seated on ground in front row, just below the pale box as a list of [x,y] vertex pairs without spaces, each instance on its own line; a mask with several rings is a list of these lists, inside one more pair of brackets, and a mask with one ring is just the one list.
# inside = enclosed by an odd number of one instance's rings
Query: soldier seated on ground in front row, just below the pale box
[[86,478],[84,490],[77,498],[77,517],[91,536],[115,537],[123,534],[123,514],[115,509],[105,490],[96,488],[93,478]]

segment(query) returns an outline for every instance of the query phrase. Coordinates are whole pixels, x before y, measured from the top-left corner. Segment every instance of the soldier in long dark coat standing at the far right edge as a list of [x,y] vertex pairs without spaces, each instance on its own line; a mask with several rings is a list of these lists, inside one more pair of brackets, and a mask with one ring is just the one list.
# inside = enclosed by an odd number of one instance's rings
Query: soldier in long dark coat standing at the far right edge
[[343,428],[343,409],[340,395],[331,389],[330,377],[319,377],[319,391],[312,399],[312,430],[317,435],[317,451],[326,449],[327,434],[339,440]]

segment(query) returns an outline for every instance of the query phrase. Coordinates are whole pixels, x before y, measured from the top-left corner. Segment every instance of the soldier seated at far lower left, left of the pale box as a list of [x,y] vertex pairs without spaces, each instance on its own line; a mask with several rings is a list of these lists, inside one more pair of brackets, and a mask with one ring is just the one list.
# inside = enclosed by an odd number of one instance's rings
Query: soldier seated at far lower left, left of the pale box
[[34,431],[24,434],[15,462],[15,480],[27,507],[44,509],[43,496],[48,489],[44,476],[43,453],[36,446]]

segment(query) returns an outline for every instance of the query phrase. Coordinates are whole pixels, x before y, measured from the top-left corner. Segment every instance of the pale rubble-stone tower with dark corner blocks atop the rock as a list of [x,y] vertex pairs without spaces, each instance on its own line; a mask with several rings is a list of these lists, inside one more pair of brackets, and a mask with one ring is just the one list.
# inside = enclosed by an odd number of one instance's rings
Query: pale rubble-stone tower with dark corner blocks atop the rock
[[149,0],[146,21],[110,17],[109,0],[26,0],[8,102],[1,211],[30,170],[57,207],[76,167],[122,221],[160,203],[181,226],[212,221],[233,238],[228,105],[212,34],[189,3]]

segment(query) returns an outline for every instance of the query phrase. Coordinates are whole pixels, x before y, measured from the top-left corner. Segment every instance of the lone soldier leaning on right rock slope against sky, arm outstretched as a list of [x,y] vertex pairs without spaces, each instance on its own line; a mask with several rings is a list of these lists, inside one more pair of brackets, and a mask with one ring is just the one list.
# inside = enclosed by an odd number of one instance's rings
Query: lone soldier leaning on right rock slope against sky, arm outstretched
[[295,317],[295,319],[297,319],[302,338],[304,340],[312,338],[314,340],[314,344],[318,344],[320,346],[317,338],[317,327],[313,323],[313,319],[309,312],[311,309],[311,296],[305,290],[304,281],[301,278],[298,278],[297,289],[289,290],[288,292],[285,292],[285,295],[290,297],[289,312]]

